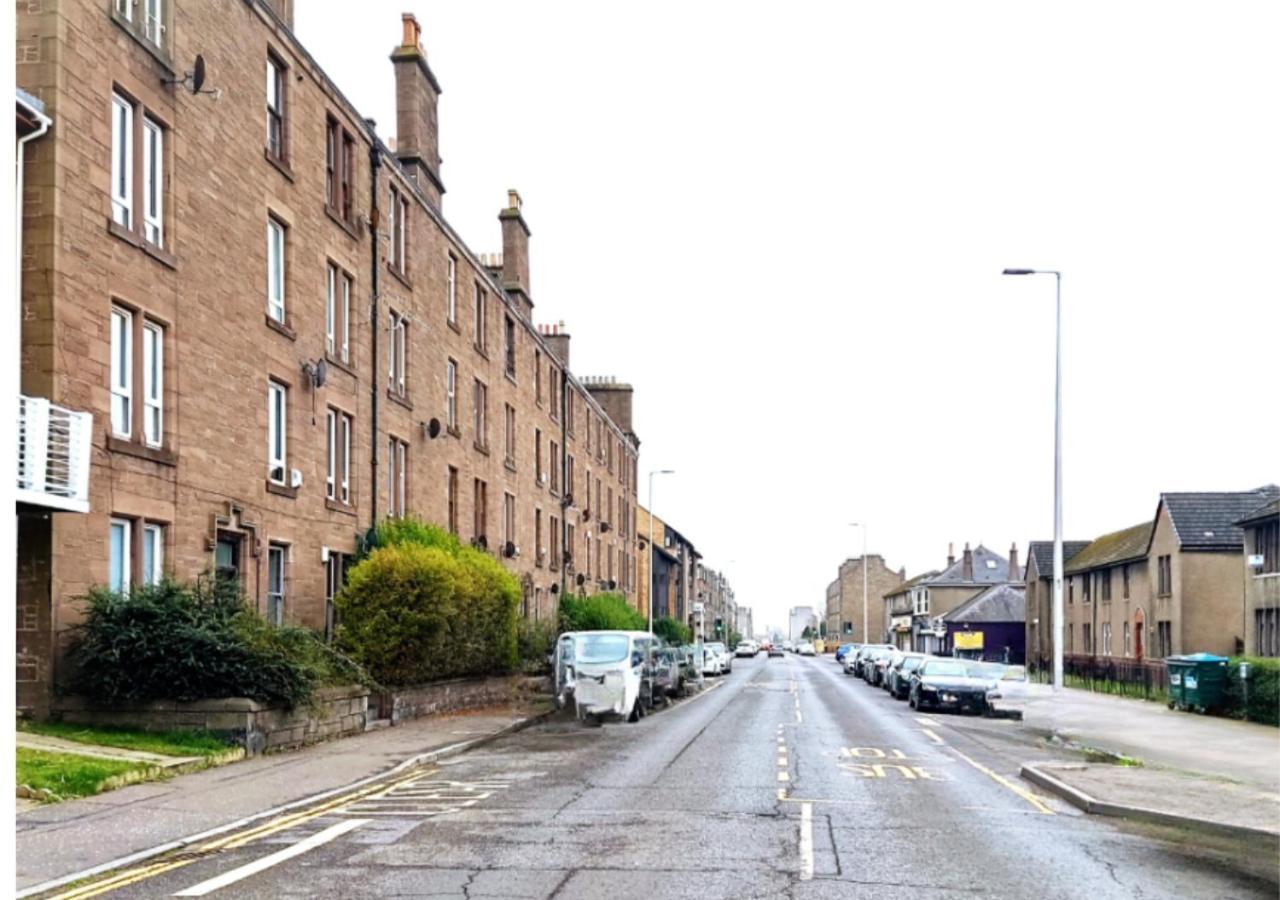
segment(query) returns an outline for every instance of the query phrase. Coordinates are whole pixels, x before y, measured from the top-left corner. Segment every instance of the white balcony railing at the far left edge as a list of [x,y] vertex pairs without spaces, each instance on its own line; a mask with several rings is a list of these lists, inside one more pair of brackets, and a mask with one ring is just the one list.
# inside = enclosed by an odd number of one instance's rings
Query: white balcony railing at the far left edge
[[18,396],[18,501],[88,512],[93,415]]

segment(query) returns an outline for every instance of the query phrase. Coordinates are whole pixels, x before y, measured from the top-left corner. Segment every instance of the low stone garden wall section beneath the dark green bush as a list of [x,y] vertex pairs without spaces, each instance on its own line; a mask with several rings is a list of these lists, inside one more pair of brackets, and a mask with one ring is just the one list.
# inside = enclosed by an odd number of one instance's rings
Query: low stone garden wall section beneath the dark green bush
[[243,744],[244,751],[253,755],[364,732],[369,722],[369,690],[323,687],[310,705],[296,709],[242,696],[191,703],[156,700],[105,709],[83,698],[65,696],[55,703],[54,716],[64,722],[147,731],[215,731]]

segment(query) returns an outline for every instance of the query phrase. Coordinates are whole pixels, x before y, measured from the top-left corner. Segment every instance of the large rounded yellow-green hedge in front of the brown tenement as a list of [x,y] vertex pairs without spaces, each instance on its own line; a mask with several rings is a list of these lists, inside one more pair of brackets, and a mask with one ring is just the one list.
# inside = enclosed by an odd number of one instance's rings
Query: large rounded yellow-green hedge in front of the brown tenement
[[416,520],[371,538],[334,599],[344,652],[387,685],[516,668],[520,584],[497,559]]

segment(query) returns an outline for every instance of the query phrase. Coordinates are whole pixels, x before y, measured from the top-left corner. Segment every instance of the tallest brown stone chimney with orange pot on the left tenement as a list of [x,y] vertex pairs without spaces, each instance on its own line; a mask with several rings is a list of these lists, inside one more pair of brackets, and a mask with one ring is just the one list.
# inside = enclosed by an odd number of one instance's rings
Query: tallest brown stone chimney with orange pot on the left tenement
[[431,204],[439,209],[444,195],[440,182],[440,128],[436,104],[440,83],[426,64],[422,28],[412,13],[401,17],[401,45],[392,51],[396,68],[396,159]]

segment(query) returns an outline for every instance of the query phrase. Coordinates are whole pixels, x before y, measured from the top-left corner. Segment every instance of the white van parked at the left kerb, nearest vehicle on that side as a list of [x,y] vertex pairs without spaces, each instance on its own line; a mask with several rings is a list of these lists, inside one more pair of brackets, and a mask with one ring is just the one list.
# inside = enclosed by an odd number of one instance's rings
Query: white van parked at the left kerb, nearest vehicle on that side
[[556,699],[572,698],[580,719],[626,717],[653,705],[652,631],[567,631],[556,643]]

